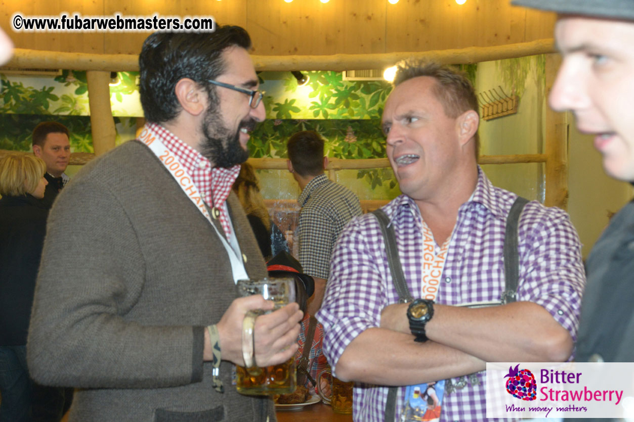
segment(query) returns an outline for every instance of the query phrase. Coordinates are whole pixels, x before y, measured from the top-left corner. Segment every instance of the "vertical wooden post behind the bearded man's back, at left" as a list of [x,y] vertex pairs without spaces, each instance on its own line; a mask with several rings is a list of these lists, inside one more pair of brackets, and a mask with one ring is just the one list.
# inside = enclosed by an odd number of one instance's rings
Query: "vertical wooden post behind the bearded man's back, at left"
[[94,155],[98,157],[115,147],[117,136],[110,108],[110,72],[89,70],[86,80]]

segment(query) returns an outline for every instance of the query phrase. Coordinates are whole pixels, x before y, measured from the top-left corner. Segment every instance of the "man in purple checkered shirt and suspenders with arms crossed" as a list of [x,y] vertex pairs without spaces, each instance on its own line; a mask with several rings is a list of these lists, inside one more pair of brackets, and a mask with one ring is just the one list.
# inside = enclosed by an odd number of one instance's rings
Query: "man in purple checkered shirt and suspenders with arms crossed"
[[571,357],[585,285],[581,243],[566,212],[528,201],[517,222],[517,289],[507,291],[505,229],[517,195],[477,165],[469,80],[415,62],[400,65],[395,80],[382,125],[403,195],[380,209],[409,297],[396,288],[375,215],[353,219],[316,316],[323,350],[333,376],[356,381],[355,420],[420,420],[406,409],[435,382],[440,421],[493,421],[486,362]]

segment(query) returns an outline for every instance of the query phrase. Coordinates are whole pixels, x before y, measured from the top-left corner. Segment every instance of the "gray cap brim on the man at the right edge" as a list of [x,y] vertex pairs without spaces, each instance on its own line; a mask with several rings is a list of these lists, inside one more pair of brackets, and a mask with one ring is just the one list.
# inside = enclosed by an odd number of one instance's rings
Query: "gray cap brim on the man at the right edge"
[[567,15],[634,20],[634,0],[512,0],[511,4]]

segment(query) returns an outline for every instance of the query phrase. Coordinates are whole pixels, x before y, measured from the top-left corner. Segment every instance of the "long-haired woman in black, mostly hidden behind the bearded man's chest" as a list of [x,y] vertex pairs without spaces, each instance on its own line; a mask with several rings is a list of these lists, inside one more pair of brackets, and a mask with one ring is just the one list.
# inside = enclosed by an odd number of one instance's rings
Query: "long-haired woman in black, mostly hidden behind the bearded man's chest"
[[247,214],[264,260],[268,261],[282,250],[290,252],[284,234],[269,217],[269,210],[264,205],[264,198],[260,193],[256,172],[249,163],[242,163],[240,174],[233,183],[233,191],[238,195]]

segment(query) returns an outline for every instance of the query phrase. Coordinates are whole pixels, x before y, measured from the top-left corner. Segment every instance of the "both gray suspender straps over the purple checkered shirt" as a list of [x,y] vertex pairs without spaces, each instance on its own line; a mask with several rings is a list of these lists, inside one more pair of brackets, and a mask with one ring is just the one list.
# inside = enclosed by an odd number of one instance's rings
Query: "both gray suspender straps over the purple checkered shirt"
[[[517,227],[519,227],[519,217],[522,214],[524,205],[528,203],[526,198],[518,196],[513,203],[507,216],[507,226],[504,234],[504,277],[505,286],[501,295],[501,303],[508,304],[515,302],[515,292],[517,291],[517,283],[519,280],[519,257],[517,251]],[[387,251],[387,262],[392,272],[392,280],[394,287],[398,291],[399,302],[411,302],[410,289],[405,281],[403,267],[398,256],[398,248],[396,247],[396,236],[394,227],[391,226],[389,218],[380,208],[372,211],[377,217],[378,225],[381,227],[383,239],[385,242],[385,250]],[[386,422],[394,421],[396,418],[396,393],[398,387],[389,387],[387,390],[387,400],[385,402],[384,420]]]

